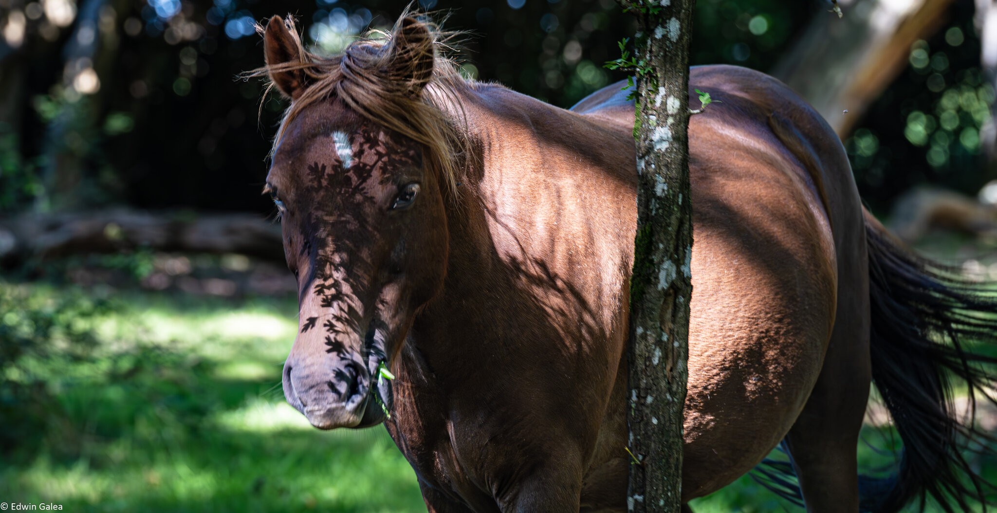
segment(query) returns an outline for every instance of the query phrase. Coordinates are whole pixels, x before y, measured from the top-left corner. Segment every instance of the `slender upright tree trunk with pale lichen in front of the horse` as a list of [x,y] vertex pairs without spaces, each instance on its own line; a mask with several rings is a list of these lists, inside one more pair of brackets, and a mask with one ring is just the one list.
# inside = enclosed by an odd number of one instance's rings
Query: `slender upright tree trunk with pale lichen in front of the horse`
[[630,511],[681,511],[692,295],[689,43],[694,0],[633,2],[637,236],[630,285]]

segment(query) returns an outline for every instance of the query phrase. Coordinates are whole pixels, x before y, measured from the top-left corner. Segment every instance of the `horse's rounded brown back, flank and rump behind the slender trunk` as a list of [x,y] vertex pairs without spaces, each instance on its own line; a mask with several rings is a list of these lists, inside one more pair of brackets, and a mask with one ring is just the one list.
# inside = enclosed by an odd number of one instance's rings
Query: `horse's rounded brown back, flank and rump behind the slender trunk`
[[[863,233],[847,159],[803,100],[775,79],[726,66],[694,68],[690,88],[721,103],[689,125],[686,498],[746,472],[789,431],[831,339],[836,248]],[[610,86],[572,110],[632,127],[625,96]]]

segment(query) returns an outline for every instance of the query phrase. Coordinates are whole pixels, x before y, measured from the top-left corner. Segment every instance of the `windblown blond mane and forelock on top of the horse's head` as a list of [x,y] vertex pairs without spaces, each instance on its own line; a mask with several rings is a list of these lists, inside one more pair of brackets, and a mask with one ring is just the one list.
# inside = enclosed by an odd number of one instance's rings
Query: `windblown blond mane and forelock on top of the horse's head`
[[[460,162],[472,147],[459,94],[468,91],[473,83],[461,76],[458,65],[449,57],[454,52],[453,41],[461,34],[444,32],[436,24],[420,19],[419,23],[432,37],[434,66],[429,84],[420,95],[414,96],[405,87],[406,82],[388,66],[390,56],[385,51],[398,36],[402,21],[411,16],[410,12],[403,13],[391,31],[371,31],[332,57],[309,52],[301,43],[293,18],[288,17],[286,23],[297,46],[299,61],[266,65],[245,75],[268,78],[274,73],[300,70],[308,83],[284,112],[273,148],[280,144],[285,129],[302,111],[335,98],[367,120],[424,144],[428,160],[437,166],[444,182],[456,193]],[[262,34],[262,31],[257,26],[257,32]],[[264,100],[273,87],[268,82]]]

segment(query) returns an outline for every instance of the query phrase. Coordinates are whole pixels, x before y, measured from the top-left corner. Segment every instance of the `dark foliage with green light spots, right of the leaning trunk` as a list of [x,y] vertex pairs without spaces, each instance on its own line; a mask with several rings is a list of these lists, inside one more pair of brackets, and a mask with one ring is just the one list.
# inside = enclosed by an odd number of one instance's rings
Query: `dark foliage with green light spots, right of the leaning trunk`
[[943,28],[911,46],[905,69],[845,139],[862,197],[880,210],[914,185],[975,195],[997,178],[980,133],[994,88],[980,68],[973,4],[952,10]]

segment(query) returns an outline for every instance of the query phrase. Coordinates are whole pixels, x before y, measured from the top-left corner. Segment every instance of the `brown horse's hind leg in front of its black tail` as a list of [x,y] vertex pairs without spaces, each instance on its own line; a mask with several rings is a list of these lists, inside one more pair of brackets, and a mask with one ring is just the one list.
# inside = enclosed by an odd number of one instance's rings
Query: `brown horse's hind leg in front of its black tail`
[[871,365],[866,265],[854,264],[846,271],[850,276],[838,276],[837,313],[824,367],[786,436],[811,512],[858,511],[855,450]]

